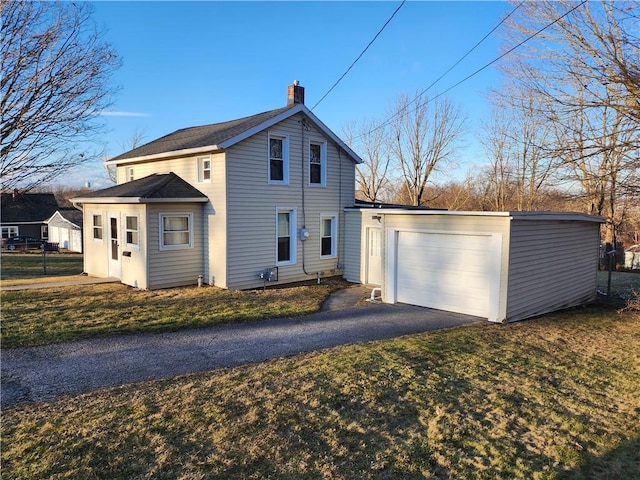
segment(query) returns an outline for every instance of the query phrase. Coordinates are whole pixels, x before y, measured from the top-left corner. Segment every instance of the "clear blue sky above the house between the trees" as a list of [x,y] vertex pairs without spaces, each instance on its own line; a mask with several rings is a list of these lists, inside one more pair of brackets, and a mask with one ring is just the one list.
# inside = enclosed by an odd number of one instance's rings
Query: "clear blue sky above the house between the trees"
[[[135,131],[143,143],[179,128],[240,118],[286,104],[297,79],[313,107],[357,58],[400,2],[96,2],[94,18],[123,65],[116,102],[97,138],[106,156]],[[351,122],[387,118],[402,93],[424,90],[484,37],[506,2],[408,1],[333,91],[313,110],[338,135]],[[498,32],[496,32],[498,33]],[[429,92],[454,85],[498,56],[496,34]],[[478,162],[475,131],[498,82],[490,67],[448,96],[469,118],[457,171]],[[67,182],[108,186],[100,162]]]

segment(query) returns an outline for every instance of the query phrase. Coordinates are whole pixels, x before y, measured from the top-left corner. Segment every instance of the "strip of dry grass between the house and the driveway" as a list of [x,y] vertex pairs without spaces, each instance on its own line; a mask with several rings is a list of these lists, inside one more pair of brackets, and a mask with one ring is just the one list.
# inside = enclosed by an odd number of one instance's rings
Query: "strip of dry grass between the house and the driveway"
[[142,291],[121,284],[2,291],[2,346],[100,335],[171,331],[317,311],[346,282],[232,291],[184,287]]

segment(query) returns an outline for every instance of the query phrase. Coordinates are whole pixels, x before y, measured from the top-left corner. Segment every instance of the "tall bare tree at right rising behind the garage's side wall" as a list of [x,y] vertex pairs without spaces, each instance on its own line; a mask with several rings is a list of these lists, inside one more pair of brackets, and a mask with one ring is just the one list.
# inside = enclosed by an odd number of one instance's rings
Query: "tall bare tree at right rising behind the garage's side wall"
[[548,155],[562,162],[567,190],[606,217],[605,239],[638,195],[640,3],[525,2],[508,22],[507,45],[529,39],[501,65],[513,108],[529,95],[551,128]]

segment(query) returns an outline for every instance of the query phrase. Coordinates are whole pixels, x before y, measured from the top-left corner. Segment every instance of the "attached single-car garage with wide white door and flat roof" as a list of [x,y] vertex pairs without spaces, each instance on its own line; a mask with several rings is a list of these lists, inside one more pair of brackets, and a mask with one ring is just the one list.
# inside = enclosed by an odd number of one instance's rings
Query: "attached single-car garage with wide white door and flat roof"
[[[595,299],[601,222],[572,213],[349,209],[346,236],[366,245],[350,252],[345,278],[379,286],[386,303],[521,320]],[[376,229],[379,245],[370,240]]]

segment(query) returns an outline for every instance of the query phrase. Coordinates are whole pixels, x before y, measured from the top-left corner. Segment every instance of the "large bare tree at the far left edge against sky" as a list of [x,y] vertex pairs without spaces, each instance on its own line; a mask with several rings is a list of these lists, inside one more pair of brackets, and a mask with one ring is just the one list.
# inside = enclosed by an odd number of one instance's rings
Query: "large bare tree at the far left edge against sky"
[[0,179],[29,190],[91,161],[119,67],[87,3],[0,3]]

